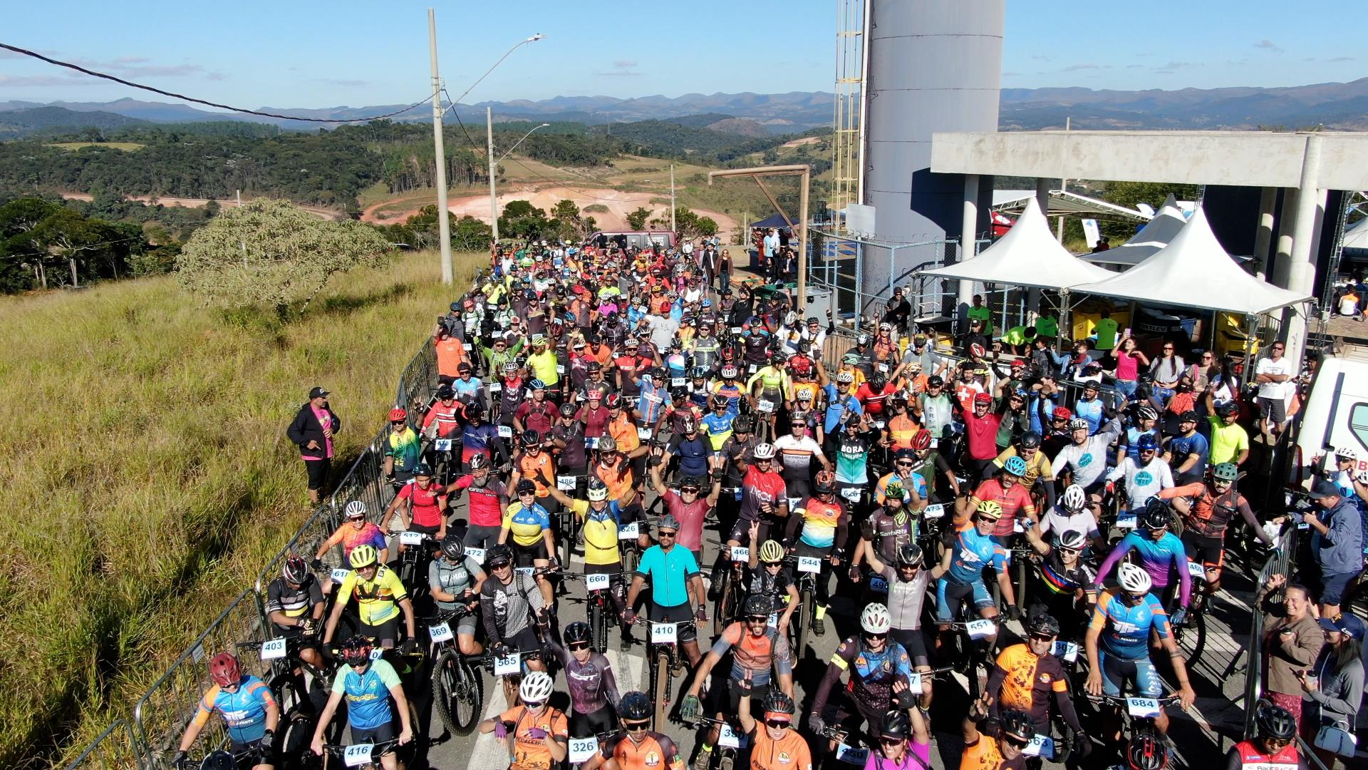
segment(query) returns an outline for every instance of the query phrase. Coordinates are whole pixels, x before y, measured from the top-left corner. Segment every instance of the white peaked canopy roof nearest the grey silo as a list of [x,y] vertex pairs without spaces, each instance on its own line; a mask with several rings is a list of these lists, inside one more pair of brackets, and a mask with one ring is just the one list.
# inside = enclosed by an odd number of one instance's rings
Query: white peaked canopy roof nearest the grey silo
[[1088,264],[1059,245],[1036,199],[1026,203],[1012,229],[978,256],[923,270],[921,274],[1037,289],[1067,289],[1114,275],[1109,270]]

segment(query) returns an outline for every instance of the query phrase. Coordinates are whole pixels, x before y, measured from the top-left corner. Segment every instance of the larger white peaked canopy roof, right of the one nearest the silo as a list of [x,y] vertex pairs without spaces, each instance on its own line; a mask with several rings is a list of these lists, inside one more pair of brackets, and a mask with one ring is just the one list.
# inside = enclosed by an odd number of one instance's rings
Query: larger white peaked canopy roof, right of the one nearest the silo
[[1245,273],[1216,241],[1198,206],[1187,225],[1153,256],[1075,293],[1256,315],[1309,300]]

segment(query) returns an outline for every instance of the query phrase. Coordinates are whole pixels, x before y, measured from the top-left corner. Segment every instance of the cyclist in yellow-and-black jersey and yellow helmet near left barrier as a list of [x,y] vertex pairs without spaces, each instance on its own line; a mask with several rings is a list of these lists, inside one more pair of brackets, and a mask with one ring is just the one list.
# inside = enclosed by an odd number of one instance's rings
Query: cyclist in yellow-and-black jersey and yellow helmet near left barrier
[[413,601],[404,588],[399,574],[379,562],[379,554],[371,545],[357,545],[347,556],[352,570],[342,580],[338,588],[337,600],[332,603],[332,612],[328,614],[327,628],[323,629],[324,647],[332,641],[337,632],[338,619],[347,603],[354,597],[356,610],[360,615],[363,636],[368,636],[380,643],[380,647],[394,647],[399,636],[399,614],[404,615],[404,630],[406,632],[405,645],[410,649],[416,647],[413,637]]

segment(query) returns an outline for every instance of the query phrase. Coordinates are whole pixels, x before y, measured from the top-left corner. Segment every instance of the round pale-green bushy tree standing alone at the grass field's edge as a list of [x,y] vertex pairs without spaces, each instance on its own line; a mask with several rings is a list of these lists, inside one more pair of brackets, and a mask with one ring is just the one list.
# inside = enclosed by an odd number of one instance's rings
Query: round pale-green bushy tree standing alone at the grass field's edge
[[176,259],[181,285],[207,303],[274,306],[282,319],[308,307],[334,273],[390,251],[361,222],[327,222],[283,200],[224,210],[196,230]]

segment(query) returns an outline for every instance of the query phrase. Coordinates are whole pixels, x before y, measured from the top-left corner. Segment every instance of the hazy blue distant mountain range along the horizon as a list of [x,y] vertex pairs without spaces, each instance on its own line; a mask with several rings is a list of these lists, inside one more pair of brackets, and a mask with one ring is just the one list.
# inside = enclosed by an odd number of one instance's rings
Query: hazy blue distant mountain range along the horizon
[[[482,101],[460,105],[462,121],[482,122],[484,107],[492,107],[499,121],[555,119],[590,125],[635,121],[672,121],[743,136],[800,133],[829,126],[833,95],[791,93],[685,93],[684,96],[557,96],[539,101]],[[297,110],[261,107],[300,118],[356,119],[402,110],[405,104],[369,107],[326,107]],[[36,114],[42,108],[41,114]],[[60,108],[53,111],[52,108]],[[73,115],[73,114],[85,115]],[[94,118],[90,114],[101,114]],[[317,123],[282,121],[256,115],[209,112],[183,104],[160,101],[0,101],[0,136],[23,133],[19,126],[105,127],[122,115],[155,123],[200,121],[254,121],[286,129],[315,129]],[[1093,90],[1088,88],[1005,88],[1001,92],[999,125],[1003,130],[1063,127],[1075,129],[1300,129],[1324,125],[1328,129],[1368,129],[1368,78],[1291,88],[1218,88],[1182,90]],[[395,121],[428,121],[430,112],[415,108]],[[5,127],[10,132],[5,132]]]

